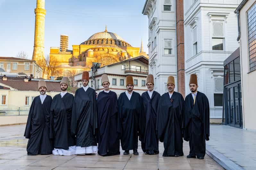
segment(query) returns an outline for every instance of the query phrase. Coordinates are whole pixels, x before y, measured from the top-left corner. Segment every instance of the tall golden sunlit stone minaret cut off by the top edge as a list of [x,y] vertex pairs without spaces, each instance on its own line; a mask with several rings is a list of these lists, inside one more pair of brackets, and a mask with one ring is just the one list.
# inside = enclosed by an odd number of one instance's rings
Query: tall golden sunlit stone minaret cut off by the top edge
[[44,59],[44,36],[45,36],[45,0],[37,0],[37,8],[35,9],[35,37],[34,51],[32,60],[39,61]]

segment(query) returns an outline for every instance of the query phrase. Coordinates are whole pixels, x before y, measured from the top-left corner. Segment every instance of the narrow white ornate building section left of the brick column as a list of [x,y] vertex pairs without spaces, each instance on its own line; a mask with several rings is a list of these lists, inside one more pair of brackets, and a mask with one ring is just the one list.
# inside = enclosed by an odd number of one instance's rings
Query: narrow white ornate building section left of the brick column
[[175,0],[146,0],[142,10],[149,19],[149,74],[160,94],[167,92],[168,76],[174,76],[177,84],[175,9]]

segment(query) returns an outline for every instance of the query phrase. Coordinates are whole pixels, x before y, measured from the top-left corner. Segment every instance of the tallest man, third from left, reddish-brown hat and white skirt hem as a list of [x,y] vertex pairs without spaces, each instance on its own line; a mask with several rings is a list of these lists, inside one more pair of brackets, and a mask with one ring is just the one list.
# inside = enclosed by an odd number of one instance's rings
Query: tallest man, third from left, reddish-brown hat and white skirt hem
[[71,135],[76,136],[76,155],[98,151],[96,93],[88,85],[88,71],[82,73],[81,80],[83,87],[76,90],[71,119]]

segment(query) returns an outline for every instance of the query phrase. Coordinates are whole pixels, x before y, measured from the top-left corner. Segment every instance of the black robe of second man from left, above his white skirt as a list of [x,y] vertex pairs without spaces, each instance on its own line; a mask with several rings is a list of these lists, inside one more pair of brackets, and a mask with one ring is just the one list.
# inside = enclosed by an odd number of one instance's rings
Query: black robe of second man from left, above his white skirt
[[68,150],[69,146],[75,145],[75,139],[70,134],[74,96],[66,93],[63,98],[61,94],[53,97],[51,105],[51,127],[50,138],[54,139],[54,148]]

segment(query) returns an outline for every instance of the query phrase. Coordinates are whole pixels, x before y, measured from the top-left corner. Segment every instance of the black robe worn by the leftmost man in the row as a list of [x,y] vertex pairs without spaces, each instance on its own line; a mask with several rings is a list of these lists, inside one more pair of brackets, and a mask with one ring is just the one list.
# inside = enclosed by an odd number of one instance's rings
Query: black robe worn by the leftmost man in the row
[[40,96],[35,97],[30,110],[24,136],[29,139],[28,155],[52,154],[53,142],[50,139],[50,108],[52,97],[46,96],[43,104]]

